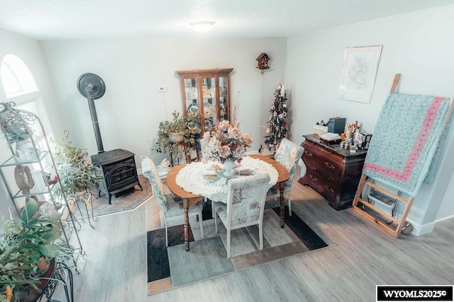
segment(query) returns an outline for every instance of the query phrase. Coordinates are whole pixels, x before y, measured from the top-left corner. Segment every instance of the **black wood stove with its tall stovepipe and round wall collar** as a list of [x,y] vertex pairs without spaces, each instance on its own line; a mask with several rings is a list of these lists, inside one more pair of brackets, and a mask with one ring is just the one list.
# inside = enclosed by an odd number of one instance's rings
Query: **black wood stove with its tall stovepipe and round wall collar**
[[135,185],[143,190],[135,167],[135,154],[123,149],[104,151],[96,108],[94,107],[94,100],[101,98],[106,92],[104,81],[96,74],[82,74],[77,80],[77,88],[79,93],[87,98],[92,116],[94,135],[98,146],[98,154],[92,155],[92,162],[99,168],[99,173],[102,173],[103,176],[98,187],[99,196],[101,196],[101,192],[106,193],[109,197],[109,204],[111,204],[112,195],[119,197],[128,192],[133,192]]

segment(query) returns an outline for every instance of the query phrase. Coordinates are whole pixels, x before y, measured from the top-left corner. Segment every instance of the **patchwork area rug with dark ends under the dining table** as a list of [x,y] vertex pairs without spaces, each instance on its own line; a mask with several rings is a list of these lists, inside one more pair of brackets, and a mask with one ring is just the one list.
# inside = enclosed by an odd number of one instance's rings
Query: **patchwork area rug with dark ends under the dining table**
[[[259,250],[258,227],[250,226],[232,231],[231,258],[226,252],[226,228],[218,221],[214,229],[211,211],[204,211],[204,238],[200,238],[199,223],[192,223],[190,238],[199,238],[184,248],[184,228],[169,228],[169,246],[165,248],[165,230],[147,233],[148,294],[174,289],[223,274],[238,272],[268,262],[328,247],[297,214],[288,215],[285,207],[285,226],[279,225],[279,208],[265,209],[263,250]],[[206,215],[206,216],[205,216]]]

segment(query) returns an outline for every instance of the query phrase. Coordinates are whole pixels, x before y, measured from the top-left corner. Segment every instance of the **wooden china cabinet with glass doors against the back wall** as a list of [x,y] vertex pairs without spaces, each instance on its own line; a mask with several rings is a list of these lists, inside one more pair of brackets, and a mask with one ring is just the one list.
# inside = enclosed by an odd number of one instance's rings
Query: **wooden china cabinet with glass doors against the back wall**
[[230,73],[226,69],[194,69],[179,74],[184,115],[189,127],[210,131],[214,122],[230,120]]

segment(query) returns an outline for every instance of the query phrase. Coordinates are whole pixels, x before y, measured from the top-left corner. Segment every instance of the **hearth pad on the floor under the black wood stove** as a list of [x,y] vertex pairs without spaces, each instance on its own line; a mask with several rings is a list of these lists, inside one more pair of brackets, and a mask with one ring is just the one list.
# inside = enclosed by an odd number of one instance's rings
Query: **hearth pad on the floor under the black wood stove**
[[83,199],[78,199],[77,204],[74,204],[74,207],[72,207],[75,218],[82,221],[83,219],[87,219],[88,216],[90,218],[96,218],[137,208],[153,196],[150,182],[146,181],[143,175],[138,175],[138,178],[143,191],[140,190],[138,185],[135,185],[133,192],[128,192],[118,197],[113,195],[111,197],[111,204],[109,204],[107,194],[101,192],[101,197],[99,197],[99,191],[92,190],[91,202],[84,202]]

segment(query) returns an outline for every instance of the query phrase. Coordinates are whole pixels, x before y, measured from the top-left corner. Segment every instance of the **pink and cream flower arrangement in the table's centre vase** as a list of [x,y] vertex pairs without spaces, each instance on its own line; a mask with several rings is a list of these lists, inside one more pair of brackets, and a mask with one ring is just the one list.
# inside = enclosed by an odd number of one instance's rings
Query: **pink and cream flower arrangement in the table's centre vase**
[[218,159],[221,163],[226,160],[239,163],[246,155],[246,148],[253,143],[253,138],[248,133],[241,135],[238,124],[223,121],[215,125],[214,131],[205,132],[201,142],[206,158]]

